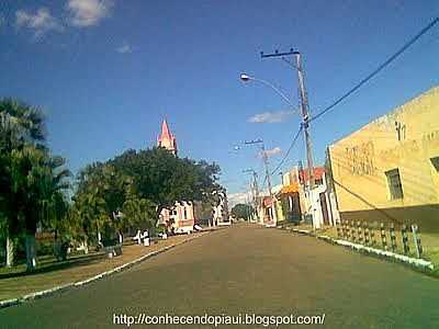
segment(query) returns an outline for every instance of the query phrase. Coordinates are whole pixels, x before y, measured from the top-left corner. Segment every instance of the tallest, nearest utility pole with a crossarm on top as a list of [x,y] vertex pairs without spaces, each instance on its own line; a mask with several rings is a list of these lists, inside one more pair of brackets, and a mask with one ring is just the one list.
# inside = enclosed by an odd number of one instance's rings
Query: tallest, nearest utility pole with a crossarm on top
[[305,89],[305,81],[304,81],[304,71],[302,67],[302,56],[301,53],[294,52],[290,49],[286,53],[279,53],[275,50],[273,54],[263,54],[260,53],[261,58],[269,58],[269,57],[281,57],[284,59],[285,56],[294,56],[295,64],[288,61],[292,67],[297,70],[299,76],[299,90],[301,95],[301,110],[302,110],[302,121],[303,121],[303,133],[305,137],[305,147],[306,147],[306,161],[308,166],[308,179],[309,179],[309,190],[313,190],[315,186],[315,178],[314,178],[314,163],[313,163],[313,151],[312,151],[312,144],[311,144],[311,135],[309,135],[309,105],[308,105],[308,97]]

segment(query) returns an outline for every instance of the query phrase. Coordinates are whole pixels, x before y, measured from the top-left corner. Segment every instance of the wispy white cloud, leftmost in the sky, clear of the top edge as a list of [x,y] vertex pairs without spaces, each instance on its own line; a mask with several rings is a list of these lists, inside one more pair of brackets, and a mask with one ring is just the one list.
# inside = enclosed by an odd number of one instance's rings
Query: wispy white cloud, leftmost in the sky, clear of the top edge
[[44,7],[40,8],[35,13],[18,10],[15,12],[15,25],[34,30],[36,37],[48,31],[63,31],[63,25]]

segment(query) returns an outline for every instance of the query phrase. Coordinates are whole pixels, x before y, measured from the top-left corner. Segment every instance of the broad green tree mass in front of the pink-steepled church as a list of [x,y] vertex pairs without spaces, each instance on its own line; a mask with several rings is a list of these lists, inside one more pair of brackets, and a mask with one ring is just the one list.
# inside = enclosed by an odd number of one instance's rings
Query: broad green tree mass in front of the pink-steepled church
[[74,213],[86,240],[100,231],[150,229],[176,201],[212,201],[218,174],[215,163],[180,159],[164,148],[128,150],[79,173]]

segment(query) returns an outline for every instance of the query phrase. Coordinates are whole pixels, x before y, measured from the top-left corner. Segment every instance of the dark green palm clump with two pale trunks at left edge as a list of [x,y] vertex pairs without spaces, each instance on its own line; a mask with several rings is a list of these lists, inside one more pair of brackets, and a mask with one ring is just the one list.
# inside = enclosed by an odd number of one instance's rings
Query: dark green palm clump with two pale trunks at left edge
[[58,228],[68,207],[65,191],[70,172],[64,164],[45,145],[42,112],[11,99],[0,100],[0,236],[8,241],[9,265],[13,238],[25,236],[32,270],[37,226]]

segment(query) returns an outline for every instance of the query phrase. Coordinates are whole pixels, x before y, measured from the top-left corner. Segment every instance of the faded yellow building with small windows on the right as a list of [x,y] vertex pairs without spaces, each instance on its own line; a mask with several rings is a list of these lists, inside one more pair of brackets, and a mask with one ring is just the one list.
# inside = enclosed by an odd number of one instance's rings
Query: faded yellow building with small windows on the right
[[439,231],[439,88],[329,147],[341,219]]

